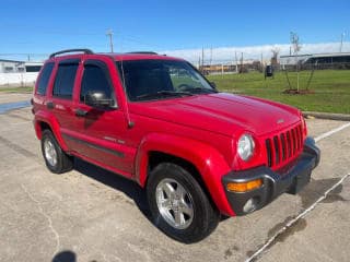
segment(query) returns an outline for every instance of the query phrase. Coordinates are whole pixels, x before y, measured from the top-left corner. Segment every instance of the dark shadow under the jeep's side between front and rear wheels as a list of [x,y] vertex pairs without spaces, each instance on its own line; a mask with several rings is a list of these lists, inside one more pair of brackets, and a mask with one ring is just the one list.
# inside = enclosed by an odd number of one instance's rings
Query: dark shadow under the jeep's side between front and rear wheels
[[137,182],[79,158],[74,159],[74,169],[109,188],[124,192],[133,200],[142,214],[151,221],[145,190]]

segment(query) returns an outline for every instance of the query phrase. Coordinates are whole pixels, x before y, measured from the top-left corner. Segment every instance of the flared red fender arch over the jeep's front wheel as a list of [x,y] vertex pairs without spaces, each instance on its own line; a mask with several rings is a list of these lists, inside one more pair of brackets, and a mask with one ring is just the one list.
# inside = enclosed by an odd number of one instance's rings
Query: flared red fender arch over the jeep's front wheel
[[149,134],[142,140],[136,157],[138,183],[145,187],[150,170],[163,162],[177,164],[190,171],[218,210],[234,216],[221,182],[222,176],[230,171],[230,166],[215,148],[187,138]]

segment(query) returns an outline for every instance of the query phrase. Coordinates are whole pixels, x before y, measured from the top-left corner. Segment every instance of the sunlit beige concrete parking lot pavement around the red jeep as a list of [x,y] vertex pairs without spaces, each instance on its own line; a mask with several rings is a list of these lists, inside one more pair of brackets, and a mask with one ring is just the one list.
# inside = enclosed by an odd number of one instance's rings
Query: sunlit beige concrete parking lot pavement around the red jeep
[[183,245],[151,224],[136,183],[82,160],[50,174],[32,118],[31,108],[0,115],[0,261],[349,261],[347,122],[307,120],[322,162],[300,194]]

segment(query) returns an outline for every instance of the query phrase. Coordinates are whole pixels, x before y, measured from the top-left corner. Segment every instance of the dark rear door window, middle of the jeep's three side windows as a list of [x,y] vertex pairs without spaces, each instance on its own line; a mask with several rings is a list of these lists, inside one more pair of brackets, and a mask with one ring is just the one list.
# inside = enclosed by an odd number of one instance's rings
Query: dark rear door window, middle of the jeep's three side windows
[[52,95],[72,98],[78,63],[60,63],[58,66]]

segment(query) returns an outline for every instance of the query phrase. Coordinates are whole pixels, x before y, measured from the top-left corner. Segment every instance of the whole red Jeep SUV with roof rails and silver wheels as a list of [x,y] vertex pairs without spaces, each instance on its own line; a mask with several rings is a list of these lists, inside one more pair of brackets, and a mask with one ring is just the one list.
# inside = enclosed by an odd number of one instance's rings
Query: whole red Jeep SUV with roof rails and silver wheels
[[52,53],[33,114],[50,171],[71,170],[79,157],[135,180],[153,223],[187,243],[220,214],[299,192],[319,162],[300,110],[221,93],[187,61],[154,52]]

